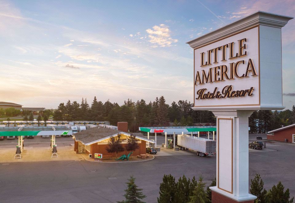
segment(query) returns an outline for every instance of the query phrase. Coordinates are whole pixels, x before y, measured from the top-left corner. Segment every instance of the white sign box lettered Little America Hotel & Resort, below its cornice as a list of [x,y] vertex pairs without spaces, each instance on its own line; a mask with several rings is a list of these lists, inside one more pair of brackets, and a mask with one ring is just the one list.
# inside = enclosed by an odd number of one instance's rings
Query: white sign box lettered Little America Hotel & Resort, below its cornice
[[194,48],[194,109],[283,109],[281,43],[259,28]]

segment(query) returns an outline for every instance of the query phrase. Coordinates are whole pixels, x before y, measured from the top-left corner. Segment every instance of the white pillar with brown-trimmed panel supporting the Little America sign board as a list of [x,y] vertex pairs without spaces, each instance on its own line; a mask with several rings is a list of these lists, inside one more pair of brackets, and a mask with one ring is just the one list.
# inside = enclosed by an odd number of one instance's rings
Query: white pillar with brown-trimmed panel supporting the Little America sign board
[[[253,110],[212,111],[217,117],[216,186],[210,189],[236,201],[250,201],[248,118]],[[226,173],[225,173],[226,171]]]

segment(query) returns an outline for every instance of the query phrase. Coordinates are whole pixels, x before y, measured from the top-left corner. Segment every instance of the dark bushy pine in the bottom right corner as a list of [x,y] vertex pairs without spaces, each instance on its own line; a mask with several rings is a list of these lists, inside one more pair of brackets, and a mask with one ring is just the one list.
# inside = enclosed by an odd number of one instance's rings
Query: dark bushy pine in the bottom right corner
[[289,189],[286,189],[284,192],[284,186],[281,181],[277,186],[273,185],[267,192],[266,198],[268,203],[292,203],[294,200],[294,197],[290,199]]

